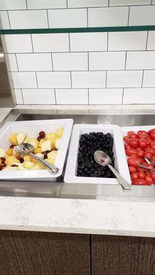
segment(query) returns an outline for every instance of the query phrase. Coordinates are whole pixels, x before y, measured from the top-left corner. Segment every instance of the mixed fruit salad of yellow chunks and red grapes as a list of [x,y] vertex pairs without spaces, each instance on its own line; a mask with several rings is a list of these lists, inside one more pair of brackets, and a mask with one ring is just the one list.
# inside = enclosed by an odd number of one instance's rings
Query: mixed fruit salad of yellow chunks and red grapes
[[45,159],[50,164],[54,164],[56,154],[59,149],[63,127],[56,129],[56,133],[45,133],[41,131],[37,138],[30,137],[26,133],[12,133],[8,137],[10,148],[4,151],[0,148],[0,170],[41,170],[45,167],[33,159],[30,155],[19,155],[15,151],[15,146],[21,143],[29,143],[34,146],[33,153]]

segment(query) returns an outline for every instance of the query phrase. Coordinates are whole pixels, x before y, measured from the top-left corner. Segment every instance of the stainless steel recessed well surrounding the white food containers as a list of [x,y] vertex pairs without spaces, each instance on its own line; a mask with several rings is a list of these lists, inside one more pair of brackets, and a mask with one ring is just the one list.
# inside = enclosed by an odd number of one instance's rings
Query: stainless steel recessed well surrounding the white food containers
[[[127,110],[126,110],[127,111]],[[131,110],[130,110],[131,111]],[[79,113],[81,113],[79,111]],[[100,113],[100,112],[99,112]],[[44,120],[56,118],[73,118],[74,123],[90,124],[118,124],[120,126],[143,126],[155,124],[155,111],[148,114],[140,111],[134,114],[96,114],[75,115],[74,111],[68,114],[57,113],[55,110],[18,110],[13,109],[1,122],[14,120]],[[52,197],[69,199],[104,199],[114,201],[155,201],[155,186],[132,186],[131,191],[123,191],[121,186],[96,184],[65,184],[63,177],[59,182],[34,181],[0,181],[0,195],[22,197]]]

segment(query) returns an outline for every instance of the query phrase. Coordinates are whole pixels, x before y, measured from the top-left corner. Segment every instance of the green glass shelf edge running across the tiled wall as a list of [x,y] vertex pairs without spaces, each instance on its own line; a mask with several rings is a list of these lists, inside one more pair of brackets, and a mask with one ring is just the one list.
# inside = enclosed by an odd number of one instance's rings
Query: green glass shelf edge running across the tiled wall
[[136,32],[155,30],[155,25],[91,27],[91,28],[49,28],[49,29],[17,29],[0,30],[0,34],[60,34],[72,32]]

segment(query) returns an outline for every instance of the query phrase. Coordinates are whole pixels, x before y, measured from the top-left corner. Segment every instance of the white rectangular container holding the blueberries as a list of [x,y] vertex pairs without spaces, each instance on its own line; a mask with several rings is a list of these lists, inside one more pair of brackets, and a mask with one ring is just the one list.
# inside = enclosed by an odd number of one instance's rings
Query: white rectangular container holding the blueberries
[[115,168],[118,172],[131,184],[130,173],[127,167],[125,157],[125,149],[123,146],[123,139],[121,130],[118,125],[102,125],[102,124],[75,124],[72,132],[72,140],[70,144],[70,151],[68,155],[68,162],[65,169],[66,183],[79,184],[118,184],[117,179],[101,178],[101,177],[77,177],[77,158],[79,153],[79,140],[82,134],[90,132],[102,132],[104,134],[111,133],[114,138],[114,157]]

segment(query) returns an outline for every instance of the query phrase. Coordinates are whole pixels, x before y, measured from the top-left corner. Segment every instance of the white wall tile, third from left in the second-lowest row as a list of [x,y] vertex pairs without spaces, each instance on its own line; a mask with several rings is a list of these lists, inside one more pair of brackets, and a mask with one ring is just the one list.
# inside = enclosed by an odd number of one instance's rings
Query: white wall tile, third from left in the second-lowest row
[[106,72],[72,72],[73,88],[104,88]]

